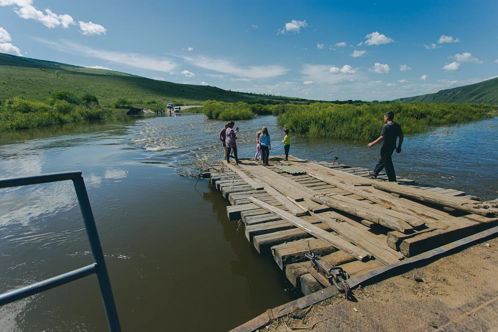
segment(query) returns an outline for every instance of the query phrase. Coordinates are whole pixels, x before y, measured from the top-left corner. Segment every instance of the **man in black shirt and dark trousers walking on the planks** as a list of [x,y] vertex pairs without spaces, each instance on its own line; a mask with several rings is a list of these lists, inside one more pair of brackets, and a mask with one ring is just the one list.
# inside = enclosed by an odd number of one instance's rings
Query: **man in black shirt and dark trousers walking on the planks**
[[[372,147],[372,145],[377,144],[382,141],[382,146],[380,147],[380,159],[370,172],[373,178],[377,178],[378,173],[385,168],[385,174],[389,182],[396,182],[396,173],[394,172],[394,166],[392,165],[392,152],[396,150],[396,153],[401,152],[401,144],[403,143],[403,131],[401,127],[396,122],[393,122],[394,112],[387,112],[384,114],[384,126],[382,127],[382,132],[380,132],[379,138],[369,143],[367,146]],[[396,138],[399,136],[398,147],[396,148]]]

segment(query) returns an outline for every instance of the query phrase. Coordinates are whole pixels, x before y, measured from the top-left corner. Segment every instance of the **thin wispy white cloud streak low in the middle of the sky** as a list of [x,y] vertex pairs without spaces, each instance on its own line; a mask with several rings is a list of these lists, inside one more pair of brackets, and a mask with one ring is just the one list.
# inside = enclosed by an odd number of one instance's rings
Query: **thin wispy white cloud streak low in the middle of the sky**
[[252,79],[265,79],[265,78],[280,76],[289,71],[287,68],[280,65],[240,67],[228,60],[213,59],[204,56],[199,56],[199,57],[185,56],[183,57],[183,59],[189,62],[190,64],[200,68],[209,69],[229,75],[252,78]]

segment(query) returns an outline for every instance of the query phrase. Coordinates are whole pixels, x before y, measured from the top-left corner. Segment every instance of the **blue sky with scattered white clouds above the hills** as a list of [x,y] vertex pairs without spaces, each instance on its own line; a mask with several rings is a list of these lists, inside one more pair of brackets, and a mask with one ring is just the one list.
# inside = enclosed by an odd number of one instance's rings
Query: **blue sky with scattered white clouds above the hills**
[[0,0],[0,52],[317,100],[498,74],[497,1]]

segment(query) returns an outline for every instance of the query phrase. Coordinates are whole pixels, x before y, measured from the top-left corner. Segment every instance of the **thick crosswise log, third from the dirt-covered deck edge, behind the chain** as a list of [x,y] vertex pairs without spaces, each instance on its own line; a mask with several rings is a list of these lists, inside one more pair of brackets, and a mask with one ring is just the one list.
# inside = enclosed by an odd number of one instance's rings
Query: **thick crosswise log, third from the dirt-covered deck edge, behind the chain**
[[[333,235],[333,233],[330,234],[337,237],[337,235]],[[308,243],[309,249],[311,249],[311,251],[316,255],[324,256],[337,251],[337,248],[331,246],[330,244],[320,239],[312,238],[272,246],[271,254],[273,255],[273,259],[277,263],[278,267],[283,270],[283,268],[288,264],[308,260],[308,258],[304,256],[304,254],[309,252]]]

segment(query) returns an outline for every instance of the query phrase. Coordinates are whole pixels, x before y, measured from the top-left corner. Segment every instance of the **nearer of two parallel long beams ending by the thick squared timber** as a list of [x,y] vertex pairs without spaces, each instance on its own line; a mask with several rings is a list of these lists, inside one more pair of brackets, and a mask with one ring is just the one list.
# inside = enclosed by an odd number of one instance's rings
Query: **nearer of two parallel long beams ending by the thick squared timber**
[[[317,203],[321,203],[323,205],[329,206],[331,208],[349,213],[353,216],[357,216],[357,217],[360,217],[362,219],[366,219],[366,220],[369,220],[369,221],[372,221],[375,223],[379,223],[382,226],[400,231],[402,233],[406,233],[407,231],[412,229],[412,227],[404,221],[400,221],[400,220],[398,220],[396,218],[392,218],[390,216],[381,215],[377,212],[372,212],[369,209],[355,206],[355,205],[350,204],[350,203],[345,203],[345,202],[333,199],[332,197],[319,196],[319,197],[313,197],[312,200],[317,202]],[[258,204],[256,204],[256,205],[258,205]]]

